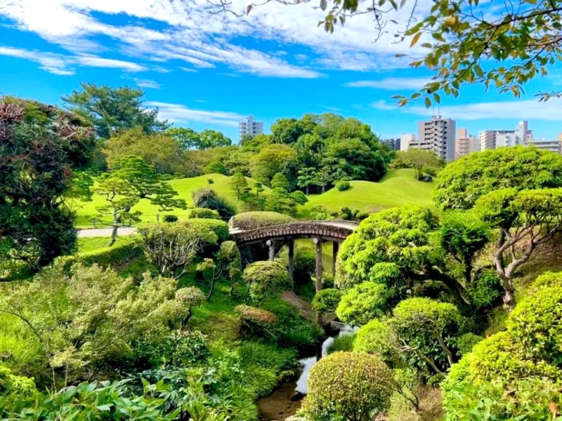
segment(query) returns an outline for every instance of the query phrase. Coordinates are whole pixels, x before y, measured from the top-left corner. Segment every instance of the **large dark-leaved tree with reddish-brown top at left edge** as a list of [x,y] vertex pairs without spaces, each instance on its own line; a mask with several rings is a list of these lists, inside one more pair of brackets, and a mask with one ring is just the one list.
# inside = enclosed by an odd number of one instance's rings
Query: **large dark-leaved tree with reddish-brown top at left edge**
[[89,197],[91,178],[80,170],[94,148],[93,131],[76,115],[0,98],[0,279],[74,251],[67,199]]

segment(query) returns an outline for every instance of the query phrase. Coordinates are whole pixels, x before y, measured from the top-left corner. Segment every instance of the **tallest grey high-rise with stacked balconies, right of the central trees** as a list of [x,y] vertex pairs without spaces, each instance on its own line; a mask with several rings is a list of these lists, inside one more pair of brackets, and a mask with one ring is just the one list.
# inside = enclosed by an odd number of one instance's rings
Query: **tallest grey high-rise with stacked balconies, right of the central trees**
[[419,121],[418,140],[410,147],[435,152],[446,161],[455,159],[455,120],[433,116],[431,120]]

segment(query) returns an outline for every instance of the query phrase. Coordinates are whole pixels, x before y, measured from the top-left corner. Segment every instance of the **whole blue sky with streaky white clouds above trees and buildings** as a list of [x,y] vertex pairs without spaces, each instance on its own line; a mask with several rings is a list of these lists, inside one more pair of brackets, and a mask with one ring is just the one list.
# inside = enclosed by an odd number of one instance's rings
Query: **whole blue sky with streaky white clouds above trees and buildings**
[[[246,4],[234,0],[233,8]],[[237,121],[250,113],[266,127],[336,112],[384,138],[416,132],[432,110],[398,109],[391,99],[431,77],[394,57],[408,46],[391,34],[375,43],[368,15],[334,34],[317,27],[320,18],[311,4],[267,4],[240,18],[209,13],[207,0],[0,0],[0,95],[60,103],[80,81],[141,86],[147,104],[177,126],[214,128],[235,141]],[[475,134],[527,119],[535,138],[556,138],[562,101],[542,104],[533,95],[562,89],[562,69],[525,89],[516,99],[469,86],[443,98],[440,112]]]

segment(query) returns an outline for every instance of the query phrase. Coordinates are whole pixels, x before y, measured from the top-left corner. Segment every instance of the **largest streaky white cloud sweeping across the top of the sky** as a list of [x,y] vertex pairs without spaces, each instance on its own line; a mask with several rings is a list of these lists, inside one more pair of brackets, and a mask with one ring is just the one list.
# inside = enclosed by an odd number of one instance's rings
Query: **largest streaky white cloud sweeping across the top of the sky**
[[[233,0],[232,7],[243,11],[247,3]],[[431,0],[419,0],[417,13],[431,4]],[[128,15],[136,24],[109,25],[100,13]],[[35,32],[73,53],[98,53],[102,47],[92,38],[109,36],[117,42],[104,45],[144,60],[181,60],[208,68],[221,63],[261,76],[315,78],[322,76],[322,69],[393,69],[408,62],[395,58],[396,53],[412,52],[407,44],[395,43],[392,24],[375,43],[377,32],[370,14],[348,18],[344,29],[326,34],[317,25],[324,12],[312,4],[286,6],[273,1],[236,18],[230,13],[209,13],[207,0],[0,0],[1,14],[20,29]],[[409,12],[386,17],[403,25]],[[163,22],[164,27],[148,29],[143,26],[147,19]],[[299,65],[284,60],[277,49],[244,48],[241,36],[299,45],[303,52],[296,58]]]

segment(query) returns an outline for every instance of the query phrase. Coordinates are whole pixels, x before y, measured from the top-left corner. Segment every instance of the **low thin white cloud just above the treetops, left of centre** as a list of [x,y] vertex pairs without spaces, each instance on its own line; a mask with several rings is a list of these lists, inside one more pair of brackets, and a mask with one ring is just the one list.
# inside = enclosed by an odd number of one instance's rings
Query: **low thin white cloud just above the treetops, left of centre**
[[237,127],[238,123],[245,119],[241,114],[224,111],[207,111],[203,109],[191,109],[181,104],[169,104],[168,102],[146,102],[148,107],[158,108],[158,116],[174,123],[189,123],[199,121],[201,123],[218,124],[220,126]]

